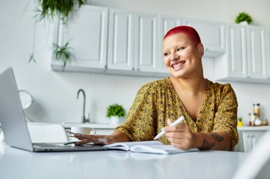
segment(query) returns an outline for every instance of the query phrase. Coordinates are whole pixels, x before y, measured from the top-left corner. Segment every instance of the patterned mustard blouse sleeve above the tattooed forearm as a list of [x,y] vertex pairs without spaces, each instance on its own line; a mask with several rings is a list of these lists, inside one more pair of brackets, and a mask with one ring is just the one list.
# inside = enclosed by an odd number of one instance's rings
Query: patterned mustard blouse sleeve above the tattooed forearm
[[234,90],[230,84],[226,84],[223,91],[221,91],[220,103],[215,113],[212,132],[227,132],[231,137],[231,151],[234,150],[234,146],[238,142],[237,107],[237,97]]

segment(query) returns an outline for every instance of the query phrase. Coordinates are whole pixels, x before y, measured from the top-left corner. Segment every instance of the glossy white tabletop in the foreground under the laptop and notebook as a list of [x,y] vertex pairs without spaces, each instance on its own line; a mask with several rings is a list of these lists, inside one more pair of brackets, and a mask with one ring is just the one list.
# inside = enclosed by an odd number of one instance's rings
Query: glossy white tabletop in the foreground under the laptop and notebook
[[139,154],[126,151],[34,153],[0,144],[0,178],[231,178],[245,153],[199,151]]

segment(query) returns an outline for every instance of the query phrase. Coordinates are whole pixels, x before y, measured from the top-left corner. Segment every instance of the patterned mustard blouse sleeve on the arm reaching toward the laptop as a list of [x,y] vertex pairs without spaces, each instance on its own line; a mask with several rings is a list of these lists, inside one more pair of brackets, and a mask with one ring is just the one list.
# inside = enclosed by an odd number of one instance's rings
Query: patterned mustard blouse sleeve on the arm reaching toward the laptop
[[156,119],[155,96],[151,83],[141,87],[129,109],[126,121],[116,130],[124,132],[131,141],[152,140],[155,134],[153,125],[153,120]]

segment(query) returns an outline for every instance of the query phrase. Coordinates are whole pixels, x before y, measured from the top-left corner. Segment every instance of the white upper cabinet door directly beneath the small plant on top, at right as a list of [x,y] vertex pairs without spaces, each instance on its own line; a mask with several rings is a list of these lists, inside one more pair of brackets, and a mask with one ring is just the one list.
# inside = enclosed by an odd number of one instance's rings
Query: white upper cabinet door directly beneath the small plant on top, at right
[[247,78],[246,27],[229,24],[227,34],[228,75],[229,77]]

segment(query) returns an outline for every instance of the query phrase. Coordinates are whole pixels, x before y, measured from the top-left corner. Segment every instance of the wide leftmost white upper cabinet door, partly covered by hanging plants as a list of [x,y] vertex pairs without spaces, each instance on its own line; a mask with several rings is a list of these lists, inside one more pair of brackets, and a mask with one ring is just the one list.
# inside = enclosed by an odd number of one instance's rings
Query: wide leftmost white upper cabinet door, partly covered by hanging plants
[[[74,60],[68,62],[67,71],[104,71],[107,63],[108,8],[81,6],[69,18],[55,25],[54,42],[60,46],[69,42]],[[62,69],[53,59],[52,68]]]

